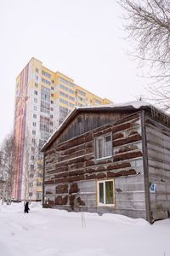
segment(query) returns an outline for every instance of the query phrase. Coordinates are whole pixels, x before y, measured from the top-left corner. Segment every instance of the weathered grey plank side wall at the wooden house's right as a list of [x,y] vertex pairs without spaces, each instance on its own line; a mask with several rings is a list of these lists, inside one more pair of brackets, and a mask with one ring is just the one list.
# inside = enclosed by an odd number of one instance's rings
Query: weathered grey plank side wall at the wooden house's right
[[150,208],[154,219],[167,218],[170,208],[170,130],[150,119],[146,125],[150,183],[156,184],[150,193]]

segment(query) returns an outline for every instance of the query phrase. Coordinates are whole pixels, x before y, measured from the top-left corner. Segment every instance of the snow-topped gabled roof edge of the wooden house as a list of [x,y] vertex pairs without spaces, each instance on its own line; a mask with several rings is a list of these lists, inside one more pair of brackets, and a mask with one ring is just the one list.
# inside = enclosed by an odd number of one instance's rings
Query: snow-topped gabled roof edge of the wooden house
[[[152,106],[148,102],[125,102],[125,103],[119,103],[119,104],[109,104],[109,105],[100,105],[100,106],[93,106],[93,107],[76,107],[74,108],[71,113],[65,118],[65,120],[62,122],[61,125],[54,131],[51,137],[48,138],[48,141],[43,145],[41,151],[43,152],[48,146],[54,142],[54,139],[57,138],[61,131],[67,127],[67,125],[71,122],[71,119],[73,119],[77,113],[85,112],[85,111],[105,111],[105,110],[112,110],[112,111],[125,111],[125,110],[138,110],[138,109],[156,109],[154,106]],[[158,110],[156,109],[157,111]]]

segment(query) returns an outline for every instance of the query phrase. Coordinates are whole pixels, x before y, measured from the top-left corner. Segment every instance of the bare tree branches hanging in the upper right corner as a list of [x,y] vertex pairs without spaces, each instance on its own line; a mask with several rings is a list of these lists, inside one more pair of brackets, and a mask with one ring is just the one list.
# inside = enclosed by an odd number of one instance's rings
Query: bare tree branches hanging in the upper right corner
[[150,100],[168,110],[170,99],[170,1],[117,0],[124,9],[127,38],[133,39],[133,57],[149,66]]

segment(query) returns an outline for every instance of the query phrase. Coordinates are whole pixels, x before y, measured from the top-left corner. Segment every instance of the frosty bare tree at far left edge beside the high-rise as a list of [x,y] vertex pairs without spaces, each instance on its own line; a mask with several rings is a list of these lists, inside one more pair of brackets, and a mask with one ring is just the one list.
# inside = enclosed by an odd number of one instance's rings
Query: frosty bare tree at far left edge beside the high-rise
[[1,178],[5,186],[7,202],[10,202],[14,184],[14,162],[15,162],[15,143],[14,135],[9,134],[3,141],[1,147]]

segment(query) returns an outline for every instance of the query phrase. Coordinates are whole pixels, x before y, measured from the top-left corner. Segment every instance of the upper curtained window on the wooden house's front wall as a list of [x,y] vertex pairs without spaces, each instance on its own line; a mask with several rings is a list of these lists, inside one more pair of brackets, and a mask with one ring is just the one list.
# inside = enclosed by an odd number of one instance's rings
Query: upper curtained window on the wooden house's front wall
[[111,135],[106,135],[103,137],[97,137],[95,139],[95,156],[96,159],[101,159],[105,157],[111,157],[112,147],[111,147]]

